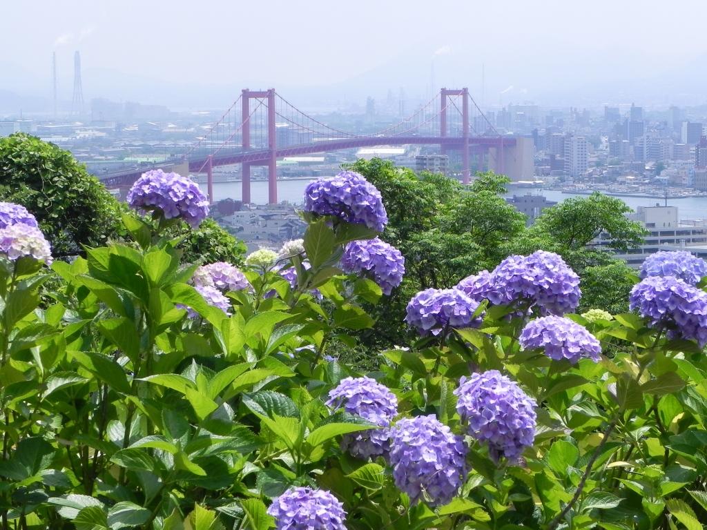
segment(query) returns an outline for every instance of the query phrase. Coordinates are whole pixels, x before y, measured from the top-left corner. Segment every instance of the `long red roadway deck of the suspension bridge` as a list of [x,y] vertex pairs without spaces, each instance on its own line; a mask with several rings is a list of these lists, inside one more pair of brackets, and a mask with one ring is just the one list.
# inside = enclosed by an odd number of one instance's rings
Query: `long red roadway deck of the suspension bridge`
[[[462,136],[371,136],[366,138],[342,138],[315,141],[299,146],[287,146],[276,148],[276,157],[307,155],[311,153],[325,153],[329,151],[339,151],[341,149],[351,149],[358,147],[374,146],[400,146],[406,144],[416,145],[438,145],[443,148],[459,149],[464,146]],[[503,138],[501,136],[469,136],[470,147],[479,146],[485,148],[506,148],[515,147],[515,138]],[[267,165],[271,160],[269,149],[251,149],[249,151],[228,151],[226,153],[216,153],[211,158],[211,167],[222,165],[233,165],[247,163],[250,165]],[[206,172],[209,158],[204,155],[197,155],[189,158],[189,172]],[[173,169],[177,165],[183,164],[181,159],[165,160],[144,167],[129,167],[125,170],[96,175],[101,182],[109,187],[129,187],[139,179],[140,175],[148,170],[157,168]]]

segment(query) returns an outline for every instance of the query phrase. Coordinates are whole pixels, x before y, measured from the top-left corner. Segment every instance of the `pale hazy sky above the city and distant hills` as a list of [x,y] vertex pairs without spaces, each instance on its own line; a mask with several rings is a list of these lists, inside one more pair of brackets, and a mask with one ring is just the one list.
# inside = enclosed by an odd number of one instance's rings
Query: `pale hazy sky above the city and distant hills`
[[0,0],[0,90],[49,95],[56,51],[70,99],[79,49],[87,98],[423,95],[434,61],[436,86],[477,99],[484,64],[494,104],[705,102],[706,20],[706,0]]

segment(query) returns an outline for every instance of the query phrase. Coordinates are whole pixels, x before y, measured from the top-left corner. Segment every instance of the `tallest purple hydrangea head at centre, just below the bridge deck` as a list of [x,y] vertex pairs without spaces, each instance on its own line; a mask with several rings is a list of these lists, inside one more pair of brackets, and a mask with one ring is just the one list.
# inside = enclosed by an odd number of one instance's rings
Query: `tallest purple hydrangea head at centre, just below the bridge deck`
[[380,192],[354,171],[310,182],[305,188],[305,211],[335,216],[378,232],[388,223]]

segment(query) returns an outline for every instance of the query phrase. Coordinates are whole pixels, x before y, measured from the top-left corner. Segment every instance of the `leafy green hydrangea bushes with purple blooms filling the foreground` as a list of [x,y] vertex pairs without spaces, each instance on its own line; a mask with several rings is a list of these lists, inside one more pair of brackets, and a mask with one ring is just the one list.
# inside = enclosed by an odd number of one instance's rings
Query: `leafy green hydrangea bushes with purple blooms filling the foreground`
[[402,259],[374,240],[385,208],[361,175],[312,182],[303,241],[242,271],[182,262],[170,225],[206,215],[189,181],[148,173],[130,196],[151,218],[71,262],[52,262],[31,212],[0,206],[3,529],[706,520],[693,261],[651,266],[630,313],[578,315],[559,256],[508,257],[410,293],[409,342],[369,352],[365,373],[336,345],[370,332]]

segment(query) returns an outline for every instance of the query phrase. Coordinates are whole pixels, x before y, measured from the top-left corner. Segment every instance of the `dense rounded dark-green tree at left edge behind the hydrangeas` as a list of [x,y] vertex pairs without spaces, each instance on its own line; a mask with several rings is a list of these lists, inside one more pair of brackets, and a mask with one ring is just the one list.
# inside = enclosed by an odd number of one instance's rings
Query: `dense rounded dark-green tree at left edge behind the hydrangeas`
[[57,256],[103,245],[119,222],[117,201],[86,167],[28,134],[0,139],[0,200],[34,213]]

